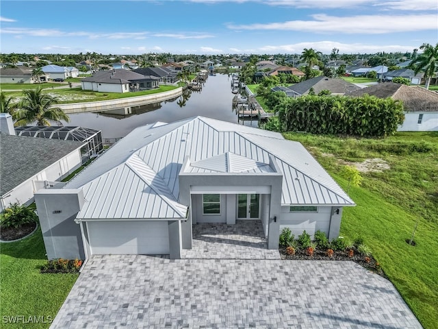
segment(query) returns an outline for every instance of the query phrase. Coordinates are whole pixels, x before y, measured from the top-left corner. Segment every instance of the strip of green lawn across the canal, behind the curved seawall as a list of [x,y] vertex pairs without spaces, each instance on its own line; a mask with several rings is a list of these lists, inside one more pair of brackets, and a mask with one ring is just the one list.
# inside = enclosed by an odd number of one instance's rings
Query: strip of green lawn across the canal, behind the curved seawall
[[[110,99],[121,99],[135,96],[151,95],[155,93],[163,93],[164,91],[178,88],[176,86],[159,86],[157,89],[143,90],[136,93],[97,93],[92,90],[82,90],[80,87],[66,89],[47,89],[46,93],[57,97],[58,103],[85,103],[88,101],[107,101]],[[22,97],[21,92],[6,92],[11,97]]]

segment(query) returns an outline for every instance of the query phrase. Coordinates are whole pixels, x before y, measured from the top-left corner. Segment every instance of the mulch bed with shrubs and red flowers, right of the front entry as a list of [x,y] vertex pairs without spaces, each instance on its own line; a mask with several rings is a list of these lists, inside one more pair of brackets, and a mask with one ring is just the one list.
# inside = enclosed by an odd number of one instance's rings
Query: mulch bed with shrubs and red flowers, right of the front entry
[[336,251],[331,257],[327,256],[326,250],[321,250],[321,249],[316,249],[315,252],[313,252],[313,256],[308,256],[305,250],[300,250],[300,249],[297,249],[294,255],[288,255],[286,253],[285,247],[280,247],[279,251],[280,251],[281,259],[287,259],[287,260],[350,260],[361,265],[362,267],[365,267],[365,269],[373,271],[379,276],[382,276],[383,278],[387,279],[385,272],[383,272],[383,269],[381,268],[380,264],[376,262],[373,256],[369,256],[368,258],[369,262],[367,262],[367,260],[365,260],[365,256],[357,252],[355,252],[354,256],[349,257],[348,250]]

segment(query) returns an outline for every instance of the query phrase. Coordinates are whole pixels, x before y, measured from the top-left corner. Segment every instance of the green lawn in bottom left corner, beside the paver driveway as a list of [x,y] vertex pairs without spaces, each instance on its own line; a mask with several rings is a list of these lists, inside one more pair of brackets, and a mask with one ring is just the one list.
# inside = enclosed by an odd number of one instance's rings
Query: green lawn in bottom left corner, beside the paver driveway
[[[41,230],[27,239],[0,244],[0,314],[55,318],[77,274],[40,274],[47,262]],[[50,324],[8,324],[5,328],[49,328]],[[3,326],[1,326],[3,328]]]

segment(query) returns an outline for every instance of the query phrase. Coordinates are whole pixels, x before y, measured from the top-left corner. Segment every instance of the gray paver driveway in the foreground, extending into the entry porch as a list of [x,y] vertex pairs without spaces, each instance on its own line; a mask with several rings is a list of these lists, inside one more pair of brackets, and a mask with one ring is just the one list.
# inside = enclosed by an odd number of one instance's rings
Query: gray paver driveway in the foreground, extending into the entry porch
[[[263,241],[205,228],[190,259],[94,256],[51,328],[422,328],[391,282],[355,263],[266,259]],[[235,259],[205,258],[221,239]],[[231,254],[245,243],[259,259]]]

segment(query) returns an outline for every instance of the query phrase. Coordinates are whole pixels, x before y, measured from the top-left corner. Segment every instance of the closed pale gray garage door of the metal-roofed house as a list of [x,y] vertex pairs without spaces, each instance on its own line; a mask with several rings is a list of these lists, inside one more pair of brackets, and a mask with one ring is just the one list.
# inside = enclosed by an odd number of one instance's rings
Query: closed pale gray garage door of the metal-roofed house
[[167,221],[89,221],[87,227],[94,255],[169,254]]

